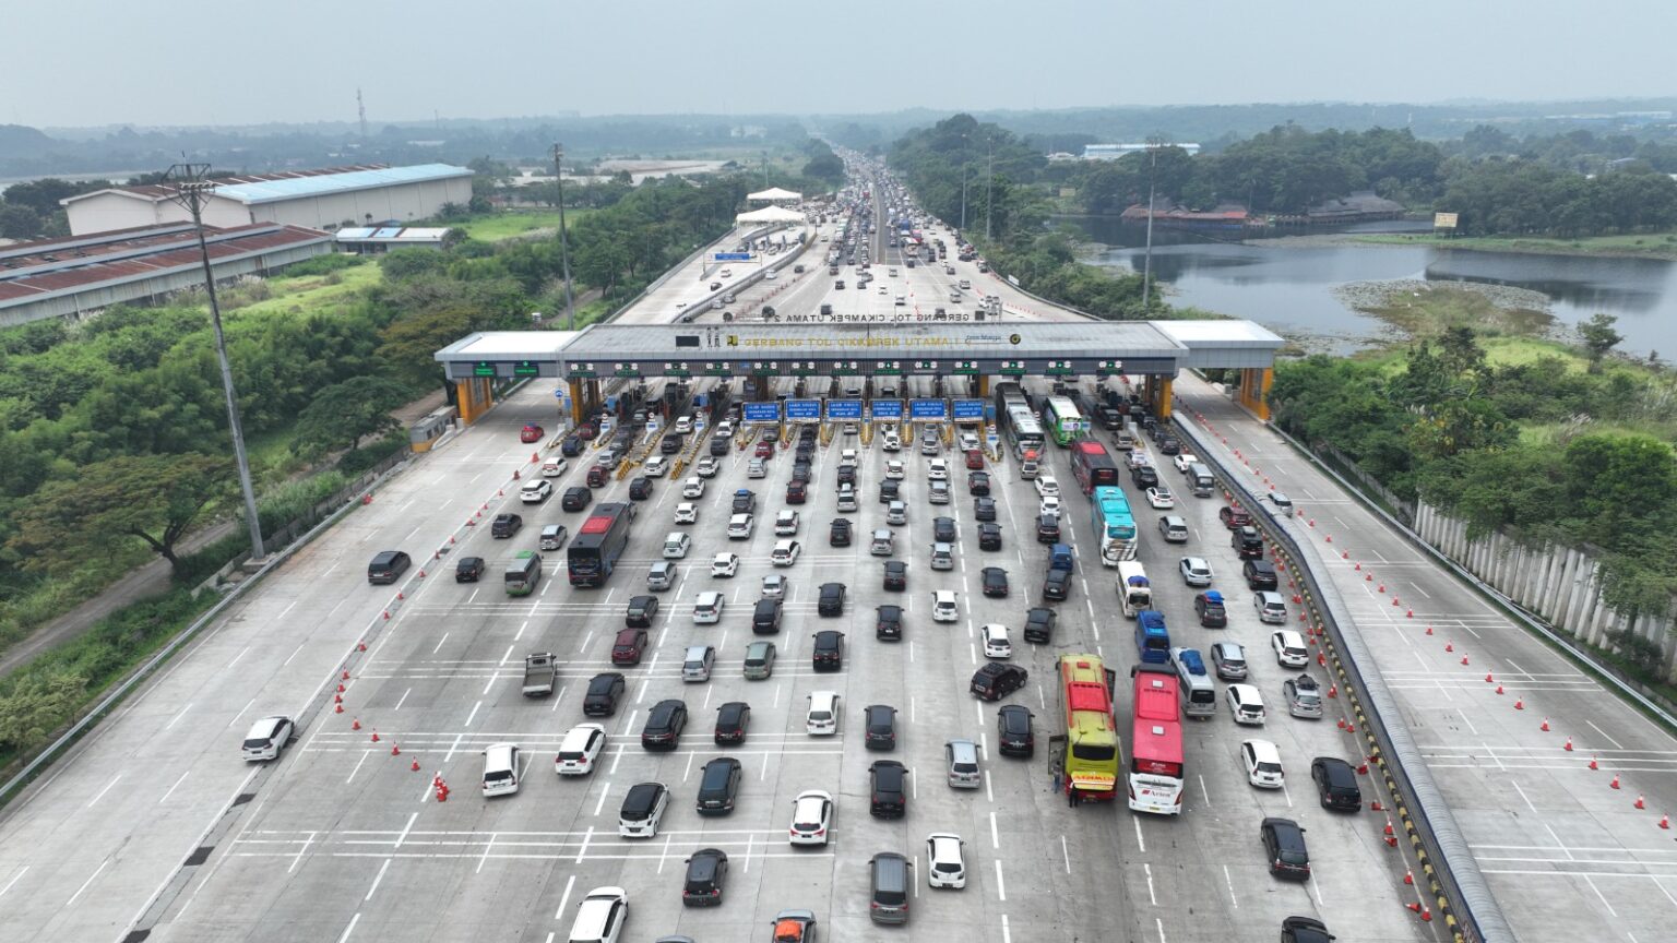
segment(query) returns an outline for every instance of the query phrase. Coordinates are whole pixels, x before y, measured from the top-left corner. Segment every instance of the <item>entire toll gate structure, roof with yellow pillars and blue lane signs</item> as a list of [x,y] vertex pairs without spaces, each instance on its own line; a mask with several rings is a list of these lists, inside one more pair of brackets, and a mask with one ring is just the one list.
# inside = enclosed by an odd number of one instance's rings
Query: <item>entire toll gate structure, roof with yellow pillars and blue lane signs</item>
[[[1234,399],[1268,419],[1264,396],[1283,342],[1249,320],[594,324],[471,334],[438,351],[436,359],[458,388],[466,423],[493,404],[496,381],[515,378],[565,381],[555,398],[569,404],[574,423],[605,403],[602,384],[644,378],[743,379],[745,398],[758,401],[775,401],[770,378],[797,378],[798,399],[869,401],[865,416],[840,408],[827,409],[827,419],[879,421],[901,418],[897,388],[907,389],[902,381],[909,378],[931,379],[941,399],[984,398],[991,378],[1127,376],[1144,391],[1149,409],[1167,418],[1172,378],[1197,367],[1239,369]],[[929,406],[919,409],[911,418],[951,416],[948,409],[941,416]]]

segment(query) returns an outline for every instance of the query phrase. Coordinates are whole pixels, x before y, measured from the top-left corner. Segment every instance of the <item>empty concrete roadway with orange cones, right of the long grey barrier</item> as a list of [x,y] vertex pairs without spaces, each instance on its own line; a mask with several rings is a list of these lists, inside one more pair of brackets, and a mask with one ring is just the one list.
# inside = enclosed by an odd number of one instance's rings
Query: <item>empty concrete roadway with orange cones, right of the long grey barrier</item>
[[[1293,535],[1325,560],[1318,572],[1350,606],[1404,708],[1389,720],[1414,732],[1514,930],[1526,940],[1603,931],[1610,940],[1669,940],[1677,847],[1659,822],[1677,814],[1677,740],[1207,384],[1184,374],[1176,393],[1179,416],[1199,413],[1228,438],[1219,461],[1258,488],[1268,478],[1298,503]],[[1635,807],[1638,797],[1645,809]]]

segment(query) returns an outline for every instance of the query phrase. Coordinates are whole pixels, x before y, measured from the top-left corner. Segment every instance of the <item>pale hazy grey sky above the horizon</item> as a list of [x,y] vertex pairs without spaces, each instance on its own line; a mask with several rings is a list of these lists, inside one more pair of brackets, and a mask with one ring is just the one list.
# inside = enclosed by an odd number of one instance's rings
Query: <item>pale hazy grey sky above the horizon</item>
[[1677,92],[1674,0],[5,0],[0,122]]

